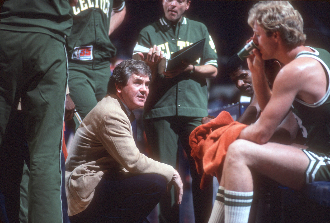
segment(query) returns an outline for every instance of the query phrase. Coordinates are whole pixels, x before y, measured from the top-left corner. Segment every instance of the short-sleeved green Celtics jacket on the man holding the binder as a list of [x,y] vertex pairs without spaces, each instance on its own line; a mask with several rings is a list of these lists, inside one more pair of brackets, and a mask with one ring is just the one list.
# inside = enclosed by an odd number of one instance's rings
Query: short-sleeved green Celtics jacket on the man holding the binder
[[[138,44],[148,48],[157,45],[163,53],[170,55],[204,38],[203,55],[196,61],[196,65],[211,64],[217,67],[215,45],[207,27],[185,17],[174,27],[165,17],[157,20],[141,30]],[[204,117],[208,115],[207,101],[205,78],[189,73],[174,78],[160,75],[150,86],[144,118],[175,115]]]

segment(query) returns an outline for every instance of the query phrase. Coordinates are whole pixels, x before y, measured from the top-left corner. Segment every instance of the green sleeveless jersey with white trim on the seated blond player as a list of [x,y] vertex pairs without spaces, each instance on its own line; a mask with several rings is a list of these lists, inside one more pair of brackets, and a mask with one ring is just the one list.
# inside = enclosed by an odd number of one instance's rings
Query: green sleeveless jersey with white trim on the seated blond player
[[292,103],[292,111],[306,138],[306,144],[318,152],[328,153],[330,152],[330,53],[323,49],[311,49],[314,53],[303,51],[296,58],[312,57],[322,64],[327,78],[327,91],[323,98],[314,104],[296,98]]

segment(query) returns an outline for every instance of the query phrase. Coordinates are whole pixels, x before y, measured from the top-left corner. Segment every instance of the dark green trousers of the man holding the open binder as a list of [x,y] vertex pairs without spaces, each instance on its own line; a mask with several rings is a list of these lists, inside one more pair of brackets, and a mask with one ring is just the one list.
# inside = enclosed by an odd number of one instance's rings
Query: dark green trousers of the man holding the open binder
[[[208,222],[212,210],[213,185],[200,189],[202,174],[197,173],[195,160],[190,156],[189,135],[201,125],[201,117],[170,116],[145,119],[144,127],[154,159],[177,168],[179,140],[187,154],[192,177],[192,197],[196,223]],[[181,176],[183,177],[183,176]],[[178,223],[179,205],[175,203],[174,188],[166,192],[159,203],[160,223]]]

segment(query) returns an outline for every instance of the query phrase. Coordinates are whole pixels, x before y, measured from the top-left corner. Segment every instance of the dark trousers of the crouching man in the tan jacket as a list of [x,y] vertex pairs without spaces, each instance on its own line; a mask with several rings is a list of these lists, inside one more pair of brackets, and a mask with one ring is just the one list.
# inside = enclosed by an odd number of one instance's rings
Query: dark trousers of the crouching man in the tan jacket
[[142,223],[163,197],[166,179],[158,174],[105,173],[87,208],[71,223]]

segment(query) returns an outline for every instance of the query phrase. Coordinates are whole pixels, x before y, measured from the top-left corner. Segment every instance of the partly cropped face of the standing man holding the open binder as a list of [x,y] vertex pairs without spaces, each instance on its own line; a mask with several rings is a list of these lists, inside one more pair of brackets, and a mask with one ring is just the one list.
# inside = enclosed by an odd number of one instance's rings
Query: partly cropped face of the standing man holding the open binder
[[172,1],[163,0],[163,8],[166,19],[171,22],[177,23],[181,20],[184,11],[189,8],[190,1]]

